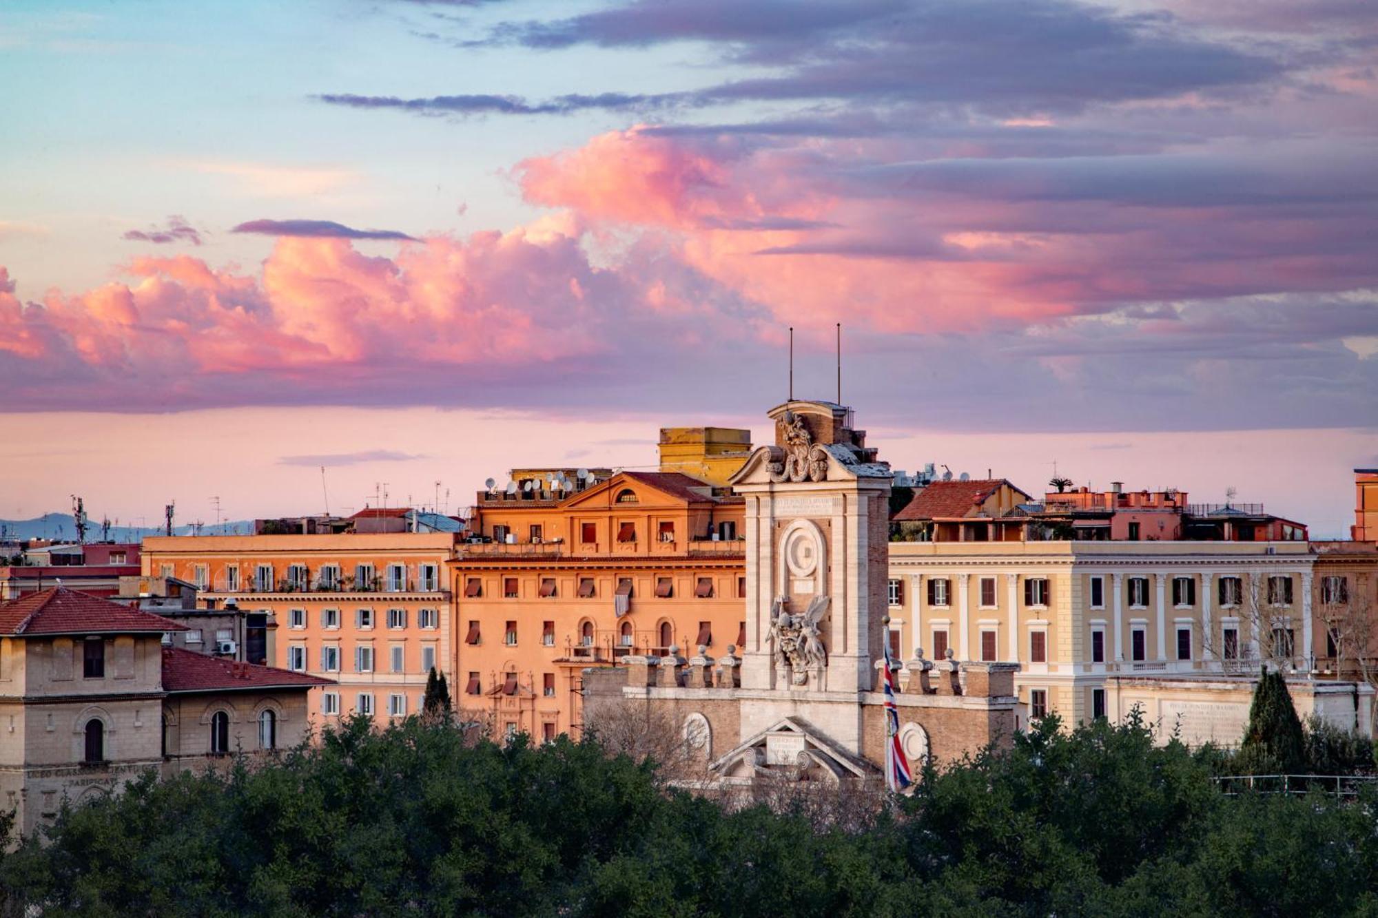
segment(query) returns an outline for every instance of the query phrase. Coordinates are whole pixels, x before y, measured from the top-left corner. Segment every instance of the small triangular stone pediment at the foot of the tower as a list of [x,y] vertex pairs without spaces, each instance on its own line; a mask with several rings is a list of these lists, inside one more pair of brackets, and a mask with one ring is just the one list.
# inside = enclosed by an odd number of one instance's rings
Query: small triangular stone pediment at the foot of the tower
[[777,721],[708,765],[723,779],[761,776],[785,780],[874,777],[878,769],[852,755],[823,733],[792,717]]

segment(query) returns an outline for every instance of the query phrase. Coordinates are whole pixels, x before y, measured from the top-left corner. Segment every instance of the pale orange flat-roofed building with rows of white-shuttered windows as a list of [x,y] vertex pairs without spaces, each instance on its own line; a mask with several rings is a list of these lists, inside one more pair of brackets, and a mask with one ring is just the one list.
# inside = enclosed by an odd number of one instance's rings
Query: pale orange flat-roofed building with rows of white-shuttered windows
[[[143,573],[200,589],[208,608],[263,615],[267,664],[338,682],[311,696],[317,722],[364,713],[378,722],[420,710],[434,666],[453,692],[451,594],[444,576],[452,532],[157,536]],[[233,635],[223,635],[233,644]],[[215,641],[222,635],[203,635]],[[226,655],[237,648],[223,646]],[[262,660],[248,655],[251,663]]]

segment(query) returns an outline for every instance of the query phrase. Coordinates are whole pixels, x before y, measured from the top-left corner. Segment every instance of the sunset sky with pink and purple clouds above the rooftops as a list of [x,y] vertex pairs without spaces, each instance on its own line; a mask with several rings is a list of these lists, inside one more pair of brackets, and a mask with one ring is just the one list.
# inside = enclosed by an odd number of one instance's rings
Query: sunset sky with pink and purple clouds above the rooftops
[[835,323],[900,469],[1378,466],[1367,0],[11,0],[0,88],[0,517],[759,442]]

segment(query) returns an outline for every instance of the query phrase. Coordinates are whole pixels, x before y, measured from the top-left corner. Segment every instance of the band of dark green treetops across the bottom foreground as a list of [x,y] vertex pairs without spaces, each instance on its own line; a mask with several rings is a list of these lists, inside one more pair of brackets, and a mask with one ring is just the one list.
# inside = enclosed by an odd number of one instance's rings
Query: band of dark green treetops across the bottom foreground
[[277,764],[63,809],[0,860],[0,895],[45,917],[1378,914],[1378,798],[1226,797],[1221,761],[1137,715],[1046,718],[820,831],[593,740],[354,718]]

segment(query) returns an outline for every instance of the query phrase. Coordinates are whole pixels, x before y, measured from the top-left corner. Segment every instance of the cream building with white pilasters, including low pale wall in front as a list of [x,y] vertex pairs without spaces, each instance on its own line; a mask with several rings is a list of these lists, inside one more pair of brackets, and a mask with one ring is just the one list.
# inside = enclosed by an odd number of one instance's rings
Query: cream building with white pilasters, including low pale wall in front
[[[1316,678],[1324,631],[1299,542],[893,542],[890,644],[908,657],[1018,663],[1020,725],[1134,704],[1184,737],[1237,742],[1259,666],[1299,713],[1371,729],[1355,686]],[[1313,686],[1313,688],[1312,688]]]

